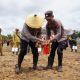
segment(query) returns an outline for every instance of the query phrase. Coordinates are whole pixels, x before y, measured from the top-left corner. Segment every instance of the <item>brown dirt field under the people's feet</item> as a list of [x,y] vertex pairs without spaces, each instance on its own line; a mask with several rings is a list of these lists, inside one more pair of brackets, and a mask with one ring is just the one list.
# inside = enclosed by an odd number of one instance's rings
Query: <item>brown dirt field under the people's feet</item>
[[[15,74],[17,55],[13,55],[10,47],[4,46],[4,56],[0,56],[0,80],[80,80],[80,49],[77,53],[67,48],[63,57],[63,72],[57,72],[57,55],[53,70],[30,70],[32,54],[28,53],[22,63],[22,73]],[[40,54],[38,67],[47,65],[48,56]]]

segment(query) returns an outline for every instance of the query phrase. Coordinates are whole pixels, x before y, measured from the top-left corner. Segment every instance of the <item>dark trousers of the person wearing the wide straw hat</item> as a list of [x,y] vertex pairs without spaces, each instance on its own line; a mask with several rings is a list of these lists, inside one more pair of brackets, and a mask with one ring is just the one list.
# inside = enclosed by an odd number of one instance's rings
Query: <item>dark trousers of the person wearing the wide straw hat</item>
[[21,63],[24,59],[24,56],[27,54],[28,45],[31,47],[32,54],[33,54],[33,66],[37,66],[39,54],[38,54],[38,49],[35,46],[36,43],[32,42],[32,41],[26,42],[25,40],[21,39],[21,44],[20,44],[21,50],[20,50],[20,54],[18,56],[18,66],[19,67],[21,67]]

